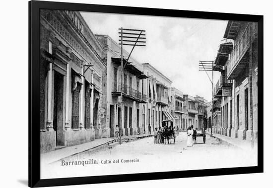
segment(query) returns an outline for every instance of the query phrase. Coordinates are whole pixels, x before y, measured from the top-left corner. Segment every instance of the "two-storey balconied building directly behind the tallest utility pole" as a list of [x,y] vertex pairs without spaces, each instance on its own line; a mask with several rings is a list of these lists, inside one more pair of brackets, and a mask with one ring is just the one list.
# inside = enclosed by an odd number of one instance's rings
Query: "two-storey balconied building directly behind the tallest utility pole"
[[[107,35],[96,35],[104,47],[103,58],[107,61],[107,118],[103,137],[113,137],[116,125],[121,125],[122,135],[144,134],[147,97],[143,83],[142,64],[130,57],[124,68],[124,81],[121,85],[121,47]],[[125,50],[124,65],[129,53]],[[121,108],[121,88],[123,90],[123,110]]]

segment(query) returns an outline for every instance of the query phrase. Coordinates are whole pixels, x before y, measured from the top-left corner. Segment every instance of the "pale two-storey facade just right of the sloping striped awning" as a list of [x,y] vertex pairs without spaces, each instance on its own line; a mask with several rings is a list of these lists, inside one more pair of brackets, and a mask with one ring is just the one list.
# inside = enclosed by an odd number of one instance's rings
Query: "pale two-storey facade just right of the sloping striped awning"
[[175,124],[180,130],[186,130],[188,111],[183,98],[183,93],[176,88],[171,88],[171,114],[175,118]]

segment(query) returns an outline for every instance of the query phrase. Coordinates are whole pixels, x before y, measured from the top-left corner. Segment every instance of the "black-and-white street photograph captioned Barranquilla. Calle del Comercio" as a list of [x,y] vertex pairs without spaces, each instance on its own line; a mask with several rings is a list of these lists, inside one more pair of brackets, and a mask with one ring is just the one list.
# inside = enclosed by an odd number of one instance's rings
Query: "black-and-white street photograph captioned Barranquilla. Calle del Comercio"
[[254,167],[258,22],[40,9],[40,178]]

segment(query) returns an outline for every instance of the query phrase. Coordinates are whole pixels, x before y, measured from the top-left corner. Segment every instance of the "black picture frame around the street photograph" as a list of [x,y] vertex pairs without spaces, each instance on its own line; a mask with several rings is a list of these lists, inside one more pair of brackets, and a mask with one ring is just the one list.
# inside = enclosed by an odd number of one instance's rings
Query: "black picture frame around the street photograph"
[[[258,166],[224,169],[204,169],[175,172],[156,172],[144,174],[127,174],[111,176],[93,176],[79,178],[40,179],[39,146],[39,10],[68,9],[122,14],[140,14],[153,16],[187,17],[221,20],[241,20],[258,22]],[[49,187],[111,182],[128,182],[157,179],[174,179],[188,177],[219,176],[233,174],[262,173],[263,162],[263,15],[218,13],[129,6],[113,6],[52,1],[29,1],[29,187]]]

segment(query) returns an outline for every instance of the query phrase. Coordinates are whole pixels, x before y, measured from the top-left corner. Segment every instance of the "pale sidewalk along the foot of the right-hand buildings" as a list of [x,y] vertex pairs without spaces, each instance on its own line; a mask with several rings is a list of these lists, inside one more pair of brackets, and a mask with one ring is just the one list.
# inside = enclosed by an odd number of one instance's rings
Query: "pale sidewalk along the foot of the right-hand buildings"
[[[210,132],[206,132],[206,134],[210,136]],[[226,143],[229,146],[234,146],[242,150],[253,150],[251,148],[250,140],[239,140],[237,138],[231,138],[228,136],[215,133],[212,133],[212,137],[221,140],[222,142]],[[254,143],[254,148],[257,148],[257,143]]]

